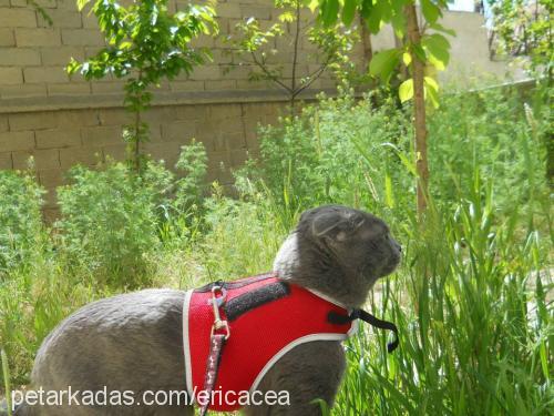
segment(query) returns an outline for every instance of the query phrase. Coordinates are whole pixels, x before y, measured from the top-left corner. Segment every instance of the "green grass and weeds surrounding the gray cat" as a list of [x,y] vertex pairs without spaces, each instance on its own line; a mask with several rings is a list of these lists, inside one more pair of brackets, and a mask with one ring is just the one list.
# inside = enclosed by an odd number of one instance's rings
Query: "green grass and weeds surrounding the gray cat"
[[[406,254],[367,305],[396,322],[400,347],[387,354],[386,334],[362,326],[346,345],[349,366],[331,414],[546,414],[554,406],[554,331],[544,125],[510,93],[445,98],[430,116],[432,195],[421,226],[407,112],[392,101],[378,109],[370,102],[322,101],[296,120],[267,128],[263,165],[238,174],[236,199],[216,187],[186,211],[141,211],[157,202],[122,207],[121,215],[113,214],[120,227],[134,220],[127,212],[147,220],[129,236],[115,234],[104,210],[86,209],[102,197],[93,192],[107,189],[94,181],[112,181],[109,175],[79,171],[81,186],[68,191],[71,203],[86,201],[72,212],[89,217],[71,221],[92,225],[79,225],[78,232],[19,226],[38,210],[35,202],[21,210],[23,216],[0,210],[9,213],[7,227],[25,242],[24,252],[4,255],[10,267],[0,271],[0,346],[9,357],[11,385],[28,383],[43,337],[81,305],[137,282],[191,287],[268,271],[302,210],[338,202],[383,217]],[[155,173],[167,184],[162,168]],[[158,201],[151,189],[140,201]],[[121,206],[133,204],[130,189],[122,194]],[[2,196],[0,206],[13,204]],[[119,204],[113,194],[106,201]],[[30,245],[37,233],[39,243]],[[74,250],[64,250],[68,235]],[[147,244],[137,245],[136,236]],[[127,239],[133,241],[126,244]],[[105,264],[89,267],[82,258],[112,261],[100,241],[115,241],[117,253],[140,258],[142,276],[130,277],[116,264],[111,278],[99,276]],[[89,257],[76,258],[80,247],[90,246]]]

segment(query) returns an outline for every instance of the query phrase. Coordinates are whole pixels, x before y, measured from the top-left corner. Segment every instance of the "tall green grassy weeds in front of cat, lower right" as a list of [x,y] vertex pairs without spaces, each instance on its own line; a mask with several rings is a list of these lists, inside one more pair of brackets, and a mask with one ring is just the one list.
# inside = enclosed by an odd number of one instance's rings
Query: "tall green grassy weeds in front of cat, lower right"
[[397,278],[371,304],[401,328],[400,348],[388,355],[382,334],[367,331],[349,343],[337,415],[542,415],[552,406],[548,244],[536,232],[520,239],[524,219],[496,217],[492,187],[476,184],[409,237]]

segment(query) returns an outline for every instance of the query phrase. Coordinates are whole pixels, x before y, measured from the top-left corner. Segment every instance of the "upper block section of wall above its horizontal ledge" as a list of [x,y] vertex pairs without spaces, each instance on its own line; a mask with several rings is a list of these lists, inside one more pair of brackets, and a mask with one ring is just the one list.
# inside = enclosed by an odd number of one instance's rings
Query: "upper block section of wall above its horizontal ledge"
[[[173,10],[186,3],[181,0],[170,1]],[[27,4],[27,0],[0,0],[0,98],[82,97],[121,91],[120,81],[106,79],[85,82],[79,77],[69,79],[63,70],[71,57],[83,60],[104,44],[95,17],[88,11],[80,13],[75,0],[37,2],[51,17],[52,27]],[[279,13],[271,4],[273,0],[220,1],[217,6],[220,37],[203,37],[194,42],[198,47],[208,47],[213,51],[214,62],[198,68],[188,79],[181,78],[175,82],[164,83],[161,90],[179,92],[273,88],[266,82],[249,82],[249,68],[228,72],[226,68],[234,62],[226,53],[229,45],[223,39],[234,31],[242,19],[252,16],[260,19],[263,27],[269,27]],[[291,39],[287,38],[279,40],[284,53],[276,58],[276,64],[285,68],[291,64],[291,53],[287,53],[290,42]],[[299,54],[300,74],[307,74],[310,69],[309,52],[312,52],[312,47],[305,42]],[[332,80],[326,74],[314,87],[332,85]]]

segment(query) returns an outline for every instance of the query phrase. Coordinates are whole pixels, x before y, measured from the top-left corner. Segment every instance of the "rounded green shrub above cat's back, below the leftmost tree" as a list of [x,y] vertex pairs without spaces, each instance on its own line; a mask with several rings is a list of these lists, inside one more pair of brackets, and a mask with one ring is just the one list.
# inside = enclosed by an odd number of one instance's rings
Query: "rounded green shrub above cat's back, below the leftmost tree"
[[136,176],[122,163],[100,171],[76,166],[58,189],[60,243],[71,266],[96,280],[135,287],[147,282],[147,255],[157,244],[156,209],[172,175],[148,163]]

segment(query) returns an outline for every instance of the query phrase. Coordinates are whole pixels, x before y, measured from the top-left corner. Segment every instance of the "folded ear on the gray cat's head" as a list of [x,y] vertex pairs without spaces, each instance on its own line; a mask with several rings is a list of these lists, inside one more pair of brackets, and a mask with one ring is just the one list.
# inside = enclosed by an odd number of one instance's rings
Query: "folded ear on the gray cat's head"
[[363,223],[353,210],[329,209],[314,214],[311,233],[316,237],[341,242],[348,240]]

